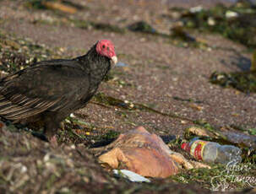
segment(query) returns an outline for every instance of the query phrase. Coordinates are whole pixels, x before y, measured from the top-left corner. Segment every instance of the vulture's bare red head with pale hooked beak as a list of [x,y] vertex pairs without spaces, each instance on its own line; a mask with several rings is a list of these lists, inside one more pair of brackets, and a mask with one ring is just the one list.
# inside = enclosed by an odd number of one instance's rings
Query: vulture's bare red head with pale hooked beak
[[115,46],[111,40],[100,40],[97,42],[96,51],[99,55],[108,57],[114,62],[117,63],[117,56],[115,53]]

